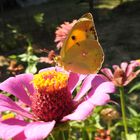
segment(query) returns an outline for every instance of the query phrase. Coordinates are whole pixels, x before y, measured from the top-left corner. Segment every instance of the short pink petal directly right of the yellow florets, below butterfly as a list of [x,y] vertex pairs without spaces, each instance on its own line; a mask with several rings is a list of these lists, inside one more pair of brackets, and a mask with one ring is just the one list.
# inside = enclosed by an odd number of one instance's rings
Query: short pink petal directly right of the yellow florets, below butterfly
[[81,84],[82,80],[87,75],[77,74],[71,72],[69,75],[69,81],[68,81],[68,89],[71,91],[71,93],[74,91],[74,89]]

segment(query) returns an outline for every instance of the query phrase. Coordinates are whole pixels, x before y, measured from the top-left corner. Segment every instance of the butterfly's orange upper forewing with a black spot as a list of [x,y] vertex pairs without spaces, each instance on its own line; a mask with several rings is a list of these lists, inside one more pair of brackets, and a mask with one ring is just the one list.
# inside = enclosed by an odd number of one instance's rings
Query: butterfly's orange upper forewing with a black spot
[[93,26],[93,18],[90,13],[83,15],[69,32],[65,40],[60,55],[65,56],[65,52],[73,47],[77,42],[85,40],[87,37],[97,40],[97,33]]

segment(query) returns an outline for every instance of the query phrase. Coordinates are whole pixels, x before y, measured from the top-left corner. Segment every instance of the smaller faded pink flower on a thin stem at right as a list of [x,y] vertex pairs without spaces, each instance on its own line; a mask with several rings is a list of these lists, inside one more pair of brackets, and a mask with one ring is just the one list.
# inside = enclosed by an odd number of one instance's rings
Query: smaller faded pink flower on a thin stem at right
[[140,66],[139,60],[122,62],[120,66],[113,65],[114,72],[109,68],[103,68],[101,72],[116,86],[121,87],[128,85],[140,74],[140,70],[135,70],[138,66]]

